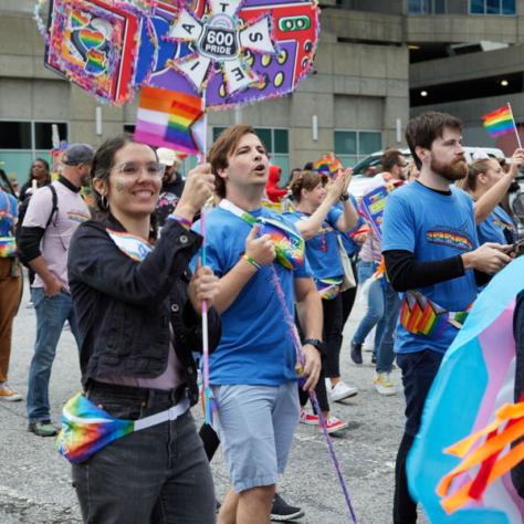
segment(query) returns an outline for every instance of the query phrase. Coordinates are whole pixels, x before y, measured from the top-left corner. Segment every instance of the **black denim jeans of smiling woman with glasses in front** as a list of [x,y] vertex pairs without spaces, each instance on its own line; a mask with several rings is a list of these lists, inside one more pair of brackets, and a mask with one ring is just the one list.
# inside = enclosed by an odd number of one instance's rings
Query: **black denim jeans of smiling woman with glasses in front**
[[[137,420],[174,406],[170,394],[95,382],[87,396],[116,418]],[[85,523],[216,522],[211,469],[189,409],[74,464],[73,485]]]

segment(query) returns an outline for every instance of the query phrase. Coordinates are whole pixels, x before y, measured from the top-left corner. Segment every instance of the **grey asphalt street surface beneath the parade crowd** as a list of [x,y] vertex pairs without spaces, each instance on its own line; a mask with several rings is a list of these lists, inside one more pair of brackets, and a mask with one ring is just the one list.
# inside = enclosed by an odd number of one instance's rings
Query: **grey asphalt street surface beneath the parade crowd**
[[[14,323],[10,384],[24,397],[29,365],[35,338],[34,310],[27,307],[24,290]],[[379,396],[371,384],[370,353],[365,364],[349,359],[349,340],[363,314],[356,305],[346,324],[342,353],[345,380],[359,394],[345,404],[333,406],[333,413],[349,427],[333,437],[333,443],[347,481],[350,497],[361,524],[391,522],[395,457],[402,433],[404,397]],[[394,371],[398,385],[400,376]],[[51,378],[52,416],[60,420],[65,400],[80,390],[77,350],[73,336],[64,331],[56,352]],[[199,423],[200,407],[193,408]],[[27,428],[25,402],[0,404],[0,523],[78,523],[80,511],[71,485],[71,468],[54,449],[54,439],[42,439]],[[228,473],[217,453],[212,470],[217,494],[228,489]],[[335,470],[322,434],[315,427],[300,425],[287,470],[280,484],[284,497],[305,510],[302,524],[343,524],[350,522]],[[421,516],[420,522],[427,522]],[[123,523],[125,524],[125,523]]]

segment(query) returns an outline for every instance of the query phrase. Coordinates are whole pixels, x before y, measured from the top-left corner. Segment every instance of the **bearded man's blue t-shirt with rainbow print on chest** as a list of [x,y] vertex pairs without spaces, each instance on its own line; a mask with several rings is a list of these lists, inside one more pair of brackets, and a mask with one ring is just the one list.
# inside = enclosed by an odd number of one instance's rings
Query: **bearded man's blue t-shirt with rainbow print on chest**
[[[410,251],[417,261],[429,262],[467,253],[478,245],[473,202],[461,189],[451,186],[451,195],[441,195],[416,181],[388,197],[382,222],[382,252]],[[468,270],[463,276],[417,291],[446,310],[459,312],[465,311],[475,300],[476,283],[473,270]],[[399,322],[395,352],[433,349],[444,353],[457,333],[457,328],[447,323],[441,336],[433,339],[409,333]]]

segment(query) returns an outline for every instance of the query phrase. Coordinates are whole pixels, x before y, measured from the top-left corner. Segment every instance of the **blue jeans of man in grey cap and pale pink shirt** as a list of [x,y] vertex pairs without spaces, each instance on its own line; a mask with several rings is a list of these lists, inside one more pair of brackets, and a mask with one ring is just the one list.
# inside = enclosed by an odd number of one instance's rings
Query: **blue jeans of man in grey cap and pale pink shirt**
[[29,368],[28,418],[30,422],[38,422],[51,418],[49,380],[65,321],[70,323],[78,348],[81,340],[70,294],[61,292],[45,296],[42,287],[32,287],[31,298],[36,312],[36,342]]

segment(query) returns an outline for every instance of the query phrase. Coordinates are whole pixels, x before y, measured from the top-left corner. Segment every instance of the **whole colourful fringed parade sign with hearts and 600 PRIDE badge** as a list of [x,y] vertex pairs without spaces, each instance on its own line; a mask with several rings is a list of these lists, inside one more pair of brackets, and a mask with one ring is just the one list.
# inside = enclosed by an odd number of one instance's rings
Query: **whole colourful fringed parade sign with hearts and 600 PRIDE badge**
[[43,3],[45,65],[115,105],[143,85],[206,93],[207,108],[286,95],[319,30],[314,0],[51,0],[49,28]]

